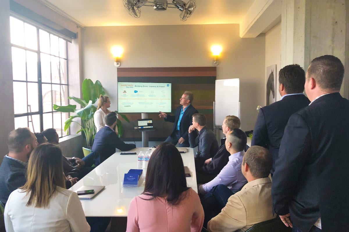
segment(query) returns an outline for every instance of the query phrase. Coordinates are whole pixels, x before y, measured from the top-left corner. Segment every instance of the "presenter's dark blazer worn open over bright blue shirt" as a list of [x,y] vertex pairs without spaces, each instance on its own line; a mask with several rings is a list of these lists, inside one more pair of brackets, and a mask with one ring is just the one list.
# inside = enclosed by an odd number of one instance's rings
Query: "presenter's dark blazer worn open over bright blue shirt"
[[[194,108],[194,106],[192,104],[188,105],[187,107],[188,107],[188,109],[186,109],[184,111],[183,117],[182,117],[180,124],[179,124],[179,134],[180,134],[180,137],[185,139],[185,143],[189,144],[188,129],[189,129],[190,125],[192,125],[192,122],[193,122],[192,115],[195,113],[199,113],[199,112]],[[166,122],[173,122],[174,123],[171,136],[174,133],[176,133],[177,123],[178,123],[179,114],[180,114],[181,109],[182,109],[182,105],[177,107],[175,116],[171,116],[168,114],[167,118],[165,118]]]

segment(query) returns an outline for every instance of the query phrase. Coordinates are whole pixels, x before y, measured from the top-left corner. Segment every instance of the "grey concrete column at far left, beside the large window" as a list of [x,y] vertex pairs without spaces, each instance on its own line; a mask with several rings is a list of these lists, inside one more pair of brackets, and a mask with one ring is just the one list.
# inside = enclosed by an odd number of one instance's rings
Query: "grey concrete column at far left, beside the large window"
[[13,82],[12,82],[12,55],[10,40],[10,2],[0,1],[0,163],[4,155],[8,153],[7,135],[15,128],[13,106]]

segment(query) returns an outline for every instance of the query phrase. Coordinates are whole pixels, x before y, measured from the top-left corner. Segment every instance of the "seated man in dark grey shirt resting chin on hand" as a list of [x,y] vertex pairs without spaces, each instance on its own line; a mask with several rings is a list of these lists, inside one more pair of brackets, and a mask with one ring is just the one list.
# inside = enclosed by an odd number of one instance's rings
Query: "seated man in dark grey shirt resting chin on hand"
[[[197,136],[193,131],[198,130]],[[218,142],[215,134],[206,126],[206,117],[203,114],[193,114],[193,125],[188,130],[190,147],[199,146],[195,157],[195,169],[203,166],[205,160],[212,158],[218,150]]]

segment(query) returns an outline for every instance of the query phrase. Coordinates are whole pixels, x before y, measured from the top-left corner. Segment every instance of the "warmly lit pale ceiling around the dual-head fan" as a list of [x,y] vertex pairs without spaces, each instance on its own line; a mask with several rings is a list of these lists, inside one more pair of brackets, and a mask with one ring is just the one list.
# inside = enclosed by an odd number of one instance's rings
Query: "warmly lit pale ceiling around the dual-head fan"
[[[254,0],[196,0],[196,9],[187,21],[178,9],[158,12],[141,7],[140,18],[129,15],[122,0],[38,0],[82,26],[134,26],[240,23]],[[184,0],[187,2],[187,0]],[[257,0],[258,1],[258,0]],[[172,2],[168,0],[168,2]]]

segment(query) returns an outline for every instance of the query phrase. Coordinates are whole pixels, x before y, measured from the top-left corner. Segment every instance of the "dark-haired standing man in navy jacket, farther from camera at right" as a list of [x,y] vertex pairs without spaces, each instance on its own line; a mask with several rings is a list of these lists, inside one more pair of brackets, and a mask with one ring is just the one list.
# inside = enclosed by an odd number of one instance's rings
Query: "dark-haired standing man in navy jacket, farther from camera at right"
[[291,64],[279,71],[279,93],[281,100],[260,109],[253,130],[251,145],[267,148],[273,156],[272,175],[275,160],[288,119],[293,113],[309,105],[304,96],[305,72],[298,64]]

